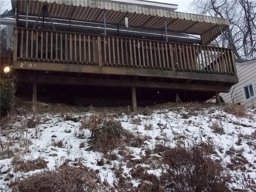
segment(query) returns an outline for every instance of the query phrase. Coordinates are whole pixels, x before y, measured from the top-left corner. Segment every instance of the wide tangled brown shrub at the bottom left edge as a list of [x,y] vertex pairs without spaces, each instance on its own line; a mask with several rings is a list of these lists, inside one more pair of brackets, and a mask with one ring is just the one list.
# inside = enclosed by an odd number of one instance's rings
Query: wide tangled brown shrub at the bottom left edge
[[81,163],[78,166],[63,164],[56,171],[43,171],[12,183],[12,192],[86,192],[98,191],[95,171]]

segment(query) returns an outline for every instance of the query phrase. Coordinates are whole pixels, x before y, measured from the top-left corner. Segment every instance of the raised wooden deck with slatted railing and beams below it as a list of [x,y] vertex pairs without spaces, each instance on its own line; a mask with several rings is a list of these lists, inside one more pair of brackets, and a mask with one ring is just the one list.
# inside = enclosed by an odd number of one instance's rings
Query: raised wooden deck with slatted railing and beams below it
[[[228,92],[238,81],[232,49],[30,28],[15,28],[14,43],[12,68],[35,72],[20,73],[21,81],[219,92]],[[46,78],[36,71],[53,75]],[[120,78],[95,81],[74,75],[64,79],[63,73],[70,72]]]

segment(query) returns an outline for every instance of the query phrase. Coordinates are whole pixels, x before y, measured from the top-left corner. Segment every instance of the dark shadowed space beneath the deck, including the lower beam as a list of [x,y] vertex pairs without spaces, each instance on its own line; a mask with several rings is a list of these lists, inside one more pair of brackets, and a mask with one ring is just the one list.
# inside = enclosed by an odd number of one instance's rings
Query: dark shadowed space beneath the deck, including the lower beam
[[[32,82],[37,82],[37,100],[84,106],[131,105],[131,86],[136,85],[138,106],[175,101],[178,93],[182,102],[205,101],[228,90],[228,83],[201,80],[120,76],[88,73],[16,70],[18,96],[32,98]],[[114,87],[113,87],[114,86]],[[194,89],[194,90],[193,90]],[[213,90],[212,90],[213,89]]]

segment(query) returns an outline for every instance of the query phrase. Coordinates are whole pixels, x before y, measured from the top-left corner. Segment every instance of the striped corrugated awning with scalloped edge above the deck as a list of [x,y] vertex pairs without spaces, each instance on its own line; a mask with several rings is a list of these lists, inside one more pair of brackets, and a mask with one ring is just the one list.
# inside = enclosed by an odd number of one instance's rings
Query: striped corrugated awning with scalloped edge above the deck
[[31,16],[38,16],[48,3],[49,14],[58,19],[103,23],[106,10],[107,24],[124,25],[124,17],[128,17],[130,27],[164,29],[166,20],[167,30],[201,35],[202,44],[209,44],[220,35],[221,29],[229,26],[227,19],[174,12],[174,7],[141,4],[143,1],[138,0],[21,0],[16,1],[19,14],[26,14],[27,2]]

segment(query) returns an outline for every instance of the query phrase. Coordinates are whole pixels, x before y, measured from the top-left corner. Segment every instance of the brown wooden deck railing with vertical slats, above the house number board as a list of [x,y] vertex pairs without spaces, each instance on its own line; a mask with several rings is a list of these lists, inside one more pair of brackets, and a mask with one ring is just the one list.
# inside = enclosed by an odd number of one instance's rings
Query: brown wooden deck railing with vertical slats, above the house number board
[[[235,75],[232,49],[15,28],[14,60]],[[16,53],[15,53],[16,52]]]

